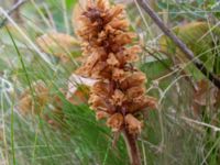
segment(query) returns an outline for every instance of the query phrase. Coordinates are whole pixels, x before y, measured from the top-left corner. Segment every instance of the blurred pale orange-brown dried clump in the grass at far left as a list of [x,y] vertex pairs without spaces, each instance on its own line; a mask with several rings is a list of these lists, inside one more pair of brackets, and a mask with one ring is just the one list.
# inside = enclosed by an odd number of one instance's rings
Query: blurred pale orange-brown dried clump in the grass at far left
[[[63,102],[57,95],[51,95],[48,87],[38,80],[32,85],[32,89],[26,88],[19,96],[18,109],[22,116],[37,114],[53,128],[61,127],[61,123],[52,119],[47,112],[44,111],[45,107],[51,103],[51,112],[56,116],[59,121],[64,121]],[[32,94],[33,92],[33,94]]]

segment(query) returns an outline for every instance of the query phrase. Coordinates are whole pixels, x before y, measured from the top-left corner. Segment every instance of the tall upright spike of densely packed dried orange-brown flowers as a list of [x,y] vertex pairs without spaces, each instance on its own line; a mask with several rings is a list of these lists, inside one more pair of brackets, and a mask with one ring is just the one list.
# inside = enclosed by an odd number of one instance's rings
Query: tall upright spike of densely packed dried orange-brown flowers
[[88,1],[79,19],[85,62],[76,73],[98,79],[89,98],[97,119],[107,119],[113,132],[125,129],[139,134],[142,122],[136,113],[155,108],[156,101],[145,96],[145,75],[132,65],[139,59],[141,47],[131,46],[135,34],[129,32],[123,6]]

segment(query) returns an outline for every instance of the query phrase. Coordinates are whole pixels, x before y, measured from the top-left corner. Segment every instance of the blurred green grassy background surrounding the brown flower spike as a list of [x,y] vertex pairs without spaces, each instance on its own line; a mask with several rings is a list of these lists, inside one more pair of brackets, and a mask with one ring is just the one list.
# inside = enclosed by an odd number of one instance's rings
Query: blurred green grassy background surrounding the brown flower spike
[[[8,19],[0,28],[0,165],[129,164],[123,140],[112,147],[110,130],[88,105],[75,96],[66,99],[74,84],[68,79],[80,63],[78,2],[30,0],[9,15],[12,6],[0,1],[0,20]],[[219,2],[157,0],[151,6],[219,75]],[[144,47],[136,66],[160,103],[146,114],[139,139],[143,165],[220,164],[220,92],[136,3],[127,3],[127,11]],[[52,32],[65,36],[37,40]]]

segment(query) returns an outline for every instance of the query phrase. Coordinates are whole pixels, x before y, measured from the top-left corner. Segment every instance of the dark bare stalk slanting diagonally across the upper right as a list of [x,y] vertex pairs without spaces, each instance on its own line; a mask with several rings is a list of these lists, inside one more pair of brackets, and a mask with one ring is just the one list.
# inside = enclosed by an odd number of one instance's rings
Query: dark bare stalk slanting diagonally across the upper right
[[151,16],[155,24],[182,50],[183,53],[190,59],[194,65],[206,76],[216,87],[220,89],[220,79],[209,72],[206,66],[195,57],[194,53],[179,40],[160,19],[154,10],[147,4],[146,0],[136,0],[140,7]]

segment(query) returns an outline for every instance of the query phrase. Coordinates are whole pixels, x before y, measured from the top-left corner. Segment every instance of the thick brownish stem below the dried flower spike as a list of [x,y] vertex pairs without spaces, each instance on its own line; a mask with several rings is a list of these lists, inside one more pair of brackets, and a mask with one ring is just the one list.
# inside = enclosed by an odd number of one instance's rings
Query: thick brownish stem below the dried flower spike
[[129,131],[125,129],[123,131],[123,138],[127,143],[127,148],[128,148],[131,165],[141,165],[141,155],[140,155],[139,147],[136,144],[136,136],[133,134],[130,134]]

